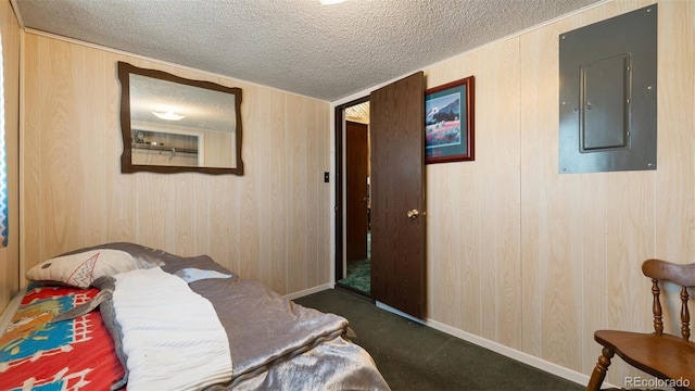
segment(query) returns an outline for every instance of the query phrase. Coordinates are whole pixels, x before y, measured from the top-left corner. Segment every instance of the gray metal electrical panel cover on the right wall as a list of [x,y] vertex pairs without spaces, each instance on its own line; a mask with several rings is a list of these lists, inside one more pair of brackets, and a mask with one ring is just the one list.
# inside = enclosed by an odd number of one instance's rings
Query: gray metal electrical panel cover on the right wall
[[656,169],[657,4],[559,36],[559,172]]

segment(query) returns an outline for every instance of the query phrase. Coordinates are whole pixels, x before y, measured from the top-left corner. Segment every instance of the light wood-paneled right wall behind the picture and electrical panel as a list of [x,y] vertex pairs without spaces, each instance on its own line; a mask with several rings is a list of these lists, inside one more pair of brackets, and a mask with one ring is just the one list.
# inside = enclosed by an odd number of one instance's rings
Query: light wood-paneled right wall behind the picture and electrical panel
[[[558,36],[650,3],[607,2],[427,70],[428,88],[476,76],[476,161],[427,169],[434,324],[585,375],[594,330],[650,330],[642,262],[695,262],[695,2],[658,4],[658,169],[558,174]],[[607,381],[629,374],[617,358]]]

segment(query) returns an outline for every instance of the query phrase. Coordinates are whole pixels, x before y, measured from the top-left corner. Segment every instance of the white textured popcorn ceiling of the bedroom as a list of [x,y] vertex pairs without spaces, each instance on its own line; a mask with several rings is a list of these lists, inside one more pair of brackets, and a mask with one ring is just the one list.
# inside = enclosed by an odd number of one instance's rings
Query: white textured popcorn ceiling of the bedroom
[[605,0],[12,0],[26,28],[334,101]]

